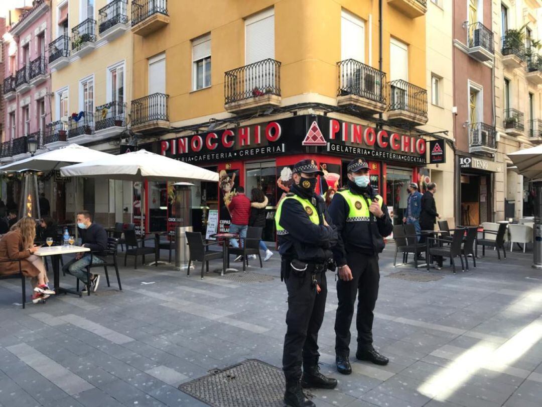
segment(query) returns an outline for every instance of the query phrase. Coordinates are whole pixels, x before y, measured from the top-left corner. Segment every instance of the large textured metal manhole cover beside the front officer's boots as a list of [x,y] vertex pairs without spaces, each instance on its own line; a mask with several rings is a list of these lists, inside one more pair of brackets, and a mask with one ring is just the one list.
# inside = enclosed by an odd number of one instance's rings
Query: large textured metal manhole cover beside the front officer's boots
[[212,407],[282,407],[282,371],[257,359],[208,374],[179,390]]

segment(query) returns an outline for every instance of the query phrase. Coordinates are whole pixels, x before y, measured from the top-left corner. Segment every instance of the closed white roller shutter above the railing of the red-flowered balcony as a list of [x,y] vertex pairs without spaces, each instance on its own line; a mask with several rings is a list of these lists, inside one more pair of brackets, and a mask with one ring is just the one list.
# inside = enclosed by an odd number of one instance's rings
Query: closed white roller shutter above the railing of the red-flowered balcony
[[275,58],[275,15],[264,11],[246,21],[246,64]]

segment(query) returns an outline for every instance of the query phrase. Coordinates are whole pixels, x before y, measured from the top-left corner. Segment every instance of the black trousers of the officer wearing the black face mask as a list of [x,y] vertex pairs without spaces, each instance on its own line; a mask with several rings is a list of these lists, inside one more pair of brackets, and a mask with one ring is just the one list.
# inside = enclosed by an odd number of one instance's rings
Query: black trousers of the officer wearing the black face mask
[[301,276],[290,272],[285,280],[288,289],[288,313],[286,314],[286,335],[282,353],[282,370],[286,380],[301,378],[301,364],[304,367],[318,364],[318,331],[324,320],[327,282],[325,272],[315,275],[320,285],[317,294],[312,287],[312,274]]

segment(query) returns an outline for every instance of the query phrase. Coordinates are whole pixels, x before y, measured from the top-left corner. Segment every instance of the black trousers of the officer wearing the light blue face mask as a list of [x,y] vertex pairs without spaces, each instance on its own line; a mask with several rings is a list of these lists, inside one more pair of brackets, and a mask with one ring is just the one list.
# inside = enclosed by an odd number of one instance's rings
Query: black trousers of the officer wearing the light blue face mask
[[347,264],[352,271],[353,280],[337,281],[339,306],[335,316],[335,354],[350,356],[350,324],[354,315],[354,304],[359,292],[356,328],[358,330],[358,348],[372,344],[373,310],[378,297],[380,271],[377,255],[347,253]]

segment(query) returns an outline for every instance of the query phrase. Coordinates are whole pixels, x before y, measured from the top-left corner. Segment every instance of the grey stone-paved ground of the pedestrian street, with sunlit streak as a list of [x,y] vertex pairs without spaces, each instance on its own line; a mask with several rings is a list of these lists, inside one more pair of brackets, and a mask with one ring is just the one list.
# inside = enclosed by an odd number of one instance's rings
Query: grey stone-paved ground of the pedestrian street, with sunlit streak
[[[449,268],[394,269],[393,249],[380,260],[373,332],[390,364],[355,361],[351,376],[335,371],[337,296],[328,273],[320,361],[339,385],[311,391],[315,404],[540,407],[542,272],[531,268],[532,253],[498,262],[489,250],[477,269],[471,260],[469,272],[454,276]],[[281,366],[287,307],[279,264],[275,254],[263,269],[251,267],[275,277],[260,283],[202,280],[199,264],[191,277],[171,266],[122,268],[122,291],[114,273],[111,288],[102,275],[90,297],[63,295],[25,310],[19,282],[0,281],[0,407],[206,405],[177,386],[249,358]],[[435,281],[389,277],[397,272]]]

